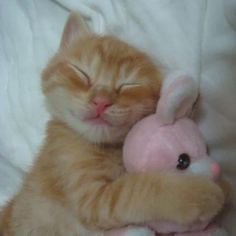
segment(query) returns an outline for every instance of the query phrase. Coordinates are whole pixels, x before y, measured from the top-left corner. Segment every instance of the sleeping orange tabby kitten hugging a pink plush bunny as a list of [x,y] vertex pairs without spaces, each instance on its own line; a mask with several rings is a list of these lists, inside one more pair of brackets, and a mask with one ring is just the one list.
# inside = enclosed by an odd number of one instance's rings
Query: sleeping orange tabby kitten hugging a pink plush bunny
[[4,236],[98,236],[148,220],[209,219],[223,193],[204,178],[126,173],[122,141],[155,111],[160,73],[113,37],[89,33],[72,14],[42,75],[47,137],[21,191],[3,209]]

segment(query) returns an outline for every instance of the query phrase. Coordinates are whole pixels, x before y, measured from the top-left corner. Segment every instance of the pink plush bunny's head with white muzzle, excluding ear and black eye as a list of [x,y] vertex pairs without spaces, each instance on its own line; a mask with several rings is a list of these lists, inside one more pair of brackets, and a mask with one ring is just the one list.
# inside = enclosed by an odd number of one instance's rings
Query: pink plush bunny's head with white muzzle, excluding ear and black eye
[[178,157],[186,153],[191,164],[181,173],[192,172],[216,178],[219,166],[207,155],[206,145],[196,126],[188,119],[163,125],[156,115],[138,122],[129,132],[123,149],[128,171],[175,170]]

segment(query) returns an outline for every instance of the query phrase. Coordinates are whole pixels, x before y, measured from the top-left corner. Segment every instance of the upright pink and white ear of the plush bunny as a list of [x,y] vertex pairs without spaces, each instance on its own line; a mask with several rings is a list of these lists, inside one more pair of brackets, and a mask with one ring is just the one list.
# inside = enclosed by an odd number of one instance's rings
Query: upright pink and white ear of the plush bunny
[[[175,78],[174,78],[175,77]],[[163,123],[188,116],[198,97],[198,85],[191,76],[171,76],[164,81],[157,105],[158,117]]]

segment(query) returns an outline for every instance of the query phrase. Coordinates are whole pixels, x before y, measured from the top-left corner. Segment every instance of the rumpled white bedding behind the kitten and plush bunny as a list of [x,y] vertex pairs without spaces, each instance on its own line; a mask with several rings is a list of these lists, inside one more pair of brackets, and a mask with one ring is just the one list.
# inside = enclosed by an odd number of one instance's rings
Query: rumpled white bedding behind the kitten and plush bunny
[[80,11],[95,32],[146,51],[166,74],[182,71],[199,82],[195,118],[233,183],[225,224],[235,236],[235,0],[0,1],[0,204],[16,191],[43,138],[48,114],[40,71],[58,47],[69,10]]

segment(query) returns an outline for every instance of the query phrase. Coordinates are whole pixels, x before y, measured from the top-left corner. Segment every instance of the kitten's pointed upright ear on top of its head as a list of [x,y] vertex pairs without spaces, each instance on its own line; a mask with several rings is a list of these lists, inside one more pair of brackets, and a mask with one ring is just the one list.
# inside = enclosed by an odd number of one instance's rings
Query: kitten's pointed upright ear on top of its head
[[90,33],[84,19],[77,13],[70,13],[62,34],[60,48],[67,47],[71,42]]

